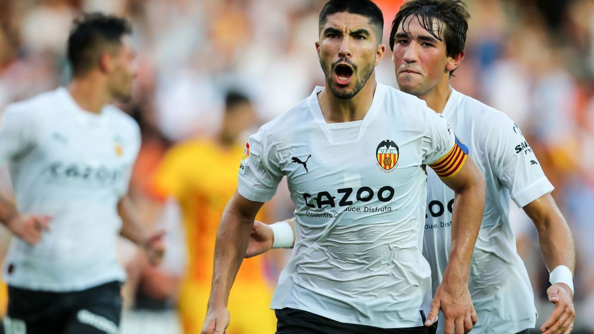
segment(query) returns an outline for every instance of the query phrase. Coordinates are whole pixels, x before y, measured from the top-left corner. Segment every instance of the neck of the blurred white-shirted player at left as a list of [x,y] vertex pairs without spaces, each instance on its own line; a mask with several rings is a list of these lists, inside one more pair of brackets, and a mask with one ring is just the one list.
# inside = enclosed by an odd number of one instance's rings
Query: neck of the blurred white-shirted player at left
[[105,89],[105,82],[91,76],[92,74],[89,77],[72,79],[68,85],[68,92],[81,109],[99,114],[111,97]]

